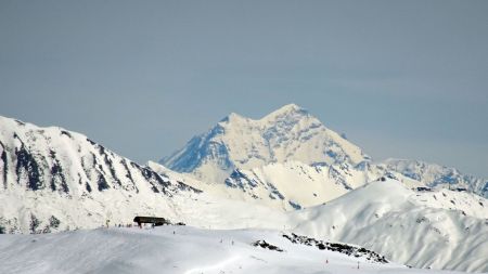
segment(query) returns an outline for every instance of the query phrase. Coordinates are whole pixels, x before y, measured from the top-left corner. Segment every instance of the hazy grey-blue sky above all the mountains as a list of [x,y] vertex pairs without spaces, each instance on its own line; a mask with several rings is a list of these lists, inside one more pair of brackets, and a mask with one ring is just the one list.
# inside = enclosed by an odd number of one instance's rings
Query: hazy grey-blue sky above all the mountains
[[0,0],[0,115],[157,160],[288,103],[488,178],[488,1]]

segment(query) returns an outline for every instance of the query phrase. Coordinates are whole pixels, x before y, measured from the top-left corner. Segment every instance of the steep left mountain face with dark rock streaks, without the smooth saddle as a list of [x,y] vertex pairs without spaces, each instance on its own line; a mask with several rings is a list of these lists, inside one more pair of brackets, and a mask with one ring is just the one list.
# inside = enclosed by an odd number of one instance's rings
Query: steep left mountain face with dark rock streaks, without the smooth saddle
[[168,210],[192,187],[141,167],[87,136],[0,117],[0,230],[7,233],[127,223]]

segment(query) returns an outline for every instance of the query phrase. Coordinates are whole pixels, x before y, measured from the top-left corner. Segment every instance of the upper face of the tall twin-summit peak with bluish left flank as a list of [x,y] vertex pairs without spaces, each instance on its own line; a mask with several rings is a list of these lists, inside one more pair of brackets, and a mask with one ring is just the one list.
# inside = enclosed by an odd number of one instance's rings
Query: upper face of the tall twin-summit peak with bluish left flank
[[198,179],[223,182],[235,168],[287,160],[355,166],[369,157],[307,110],[291,104],[259,120],[231,114],[160,164]]

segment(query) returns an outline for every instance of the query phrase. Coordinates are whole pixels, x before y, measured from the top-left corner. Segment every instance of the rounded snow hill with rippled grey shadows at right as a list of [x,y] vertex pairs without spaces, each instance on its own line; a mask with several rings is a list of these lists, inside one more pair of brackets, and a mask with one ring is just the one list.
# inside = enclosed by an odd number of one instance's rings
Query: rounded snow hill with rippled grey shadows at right
[[472,199],[464,193],[416,193],[395,180],[378,181],[298,211],[295,231],[364,246],[416,268],[486,272],[486,199],[476,196],[484,204],[476,210]]

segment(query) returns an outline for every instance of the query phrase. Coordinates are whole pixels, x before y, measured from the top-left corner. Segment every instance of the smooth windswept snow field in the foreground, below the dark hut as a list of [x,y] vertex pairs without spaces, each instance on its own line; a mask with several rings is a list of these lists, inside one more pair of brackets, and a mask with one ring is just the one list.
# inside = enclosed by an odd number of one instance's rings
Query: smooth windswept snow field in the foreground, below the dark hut
[[[262,239],[284,251],[252,246]],[[2,274],[453,273],[375,263],[319,250],[292,244],[279,232],[184,226],[1,235],[0,262]]]

